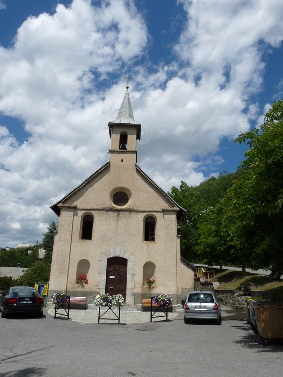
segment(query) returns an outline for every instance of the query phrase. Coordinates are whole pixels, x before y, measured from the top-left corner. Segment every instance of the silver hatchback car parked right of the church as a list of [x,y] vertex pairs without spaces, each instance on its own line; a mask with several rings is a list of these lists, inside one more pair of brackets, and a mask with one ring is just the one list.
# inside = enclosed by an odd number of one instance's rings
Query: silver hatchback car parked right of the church
[[184,322],[190,320],[215,320],[221,324],[220,304],[212,291],[192,291],[184,305]]

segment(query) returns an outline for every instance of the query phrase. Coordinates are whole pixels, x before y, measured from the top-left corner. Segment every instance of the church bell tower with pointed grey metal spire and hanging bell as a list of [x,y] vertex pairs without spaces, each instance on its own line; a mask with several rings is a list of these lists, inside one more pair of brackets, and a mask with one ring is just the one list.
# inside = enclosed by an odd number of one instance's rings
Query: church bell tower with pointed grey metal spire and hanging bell
[[129,97],[129,86],[126,86],[122,105],[117,118],[108,123],[111,146],[109,150],[110,164],[136,164],[137,140],[141,139],[141,124],[134,119]]

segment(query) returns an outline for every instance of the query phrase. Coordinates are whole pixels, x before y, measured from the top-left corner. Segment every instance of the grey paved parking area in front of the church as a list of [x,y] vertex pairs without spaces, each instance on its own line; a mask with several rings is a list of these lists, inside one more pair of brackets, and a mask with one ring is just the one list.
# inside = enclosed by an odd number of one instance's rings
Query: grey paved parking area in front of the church
[[221,326],[186,325],[182,311],[150,322],[123,310],[120,324],[98,324],[93,309],[0,318],[0,377],[281,376],[283,345],[263,346],[246,317],[222,306]]

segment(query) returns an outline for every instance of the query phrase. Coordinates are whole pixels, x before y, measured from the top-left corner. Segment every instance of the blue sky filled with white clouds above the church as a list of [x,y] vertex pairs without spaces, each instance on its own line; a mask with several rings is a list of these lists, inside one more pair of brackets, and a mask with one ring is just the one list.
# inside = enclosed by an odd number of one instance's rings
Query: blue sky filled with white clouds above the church
[[139,166],[165,191],[234,172],[283,98],[282,0],[0,0],[0,246],[108,161],[128,74]]

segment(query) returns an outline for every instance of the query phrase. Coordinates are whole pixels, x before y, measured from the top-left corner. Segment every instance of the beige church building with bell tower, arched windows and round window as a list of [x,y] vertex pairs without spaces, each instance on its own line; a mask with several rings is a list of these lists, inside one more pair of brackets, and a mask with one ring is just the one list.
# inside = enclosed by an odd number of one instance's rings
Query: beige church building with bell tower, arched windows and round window
[[[109,161],[51,206],[59,226],[49,292],[87,296],[89,303],[98,293],[121,293],[130,306],[167,293],[180,304],[194,286],[177,234],[184,210],[137,165],[141,125],[128,87],[108,128]],[[79,275],[87,275],[88,284],[78,282]]]

